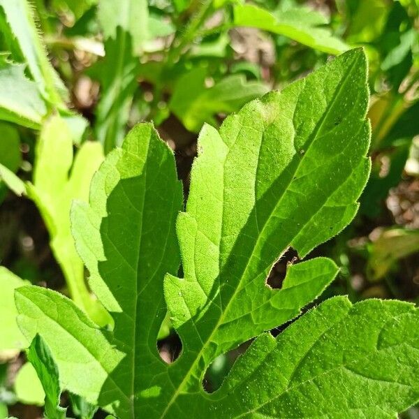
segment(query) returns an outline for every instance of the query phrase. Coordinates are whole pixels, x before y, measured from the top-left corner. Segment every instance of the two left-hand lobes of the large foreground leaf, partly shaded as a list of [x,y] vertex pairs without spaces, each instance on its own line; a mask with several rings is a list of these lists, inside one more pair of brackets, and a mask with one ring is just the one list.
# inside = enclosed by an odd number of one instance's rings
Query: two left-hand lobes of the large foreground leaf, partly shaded
[[[132,396],[142,376],[165,368],[156,338],[166,315],[163,275],[179,267],[175,219],[181,207],[182,186],[170,148],[151,124],[136,126],[98,170],[90,206],[78,203],[72,211],[89,284],[115,319],[112,341],[58,293],[26,287],[16,296],[21,327],[29,339],[40,332],[47,341],[66,388],[92,404],[119,400],[114,409],[124,417],[136,409]],[[147,371],[140,368],[145,364]],[[86,378],[83,388],[80,376]]]

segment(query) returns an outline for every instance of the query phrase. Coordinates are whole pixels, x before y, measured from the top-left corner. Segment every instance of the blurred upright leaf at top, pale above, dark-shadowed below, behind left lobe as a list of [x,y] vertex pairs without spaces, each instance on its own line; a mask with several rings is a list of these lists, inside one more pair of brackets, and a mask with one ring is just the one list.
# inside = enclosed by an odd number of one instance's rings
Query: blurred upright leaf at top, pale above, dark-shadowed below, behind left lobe
[[96,135],[108,154],[124,139],[136,87],[138,55],[148,38],[147,1],[101,0],[98,20],[107,41],[105,60],[98,72],[102,91],[96,111]]

